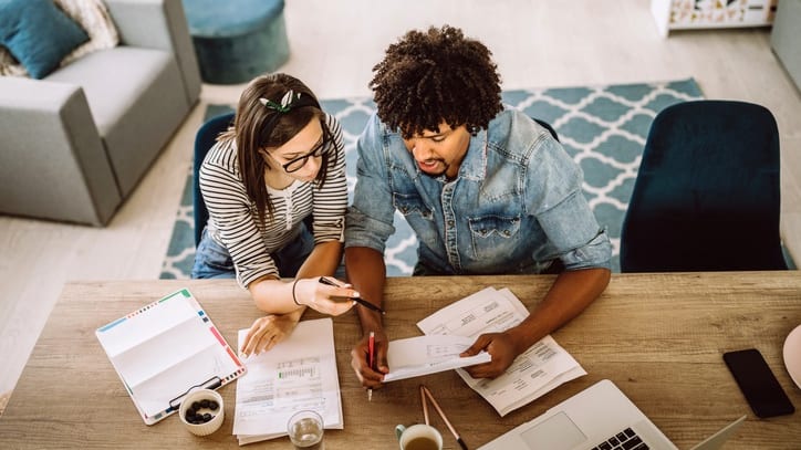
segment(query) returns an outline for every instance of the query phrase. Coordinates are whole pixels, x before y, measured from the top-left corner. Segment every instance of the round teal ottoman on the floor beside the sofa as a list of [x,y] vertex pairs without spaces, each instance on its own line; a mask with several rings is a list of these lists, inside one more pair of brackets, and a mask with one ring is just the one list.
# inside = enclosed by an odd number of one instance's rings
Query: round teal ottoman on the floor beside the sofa
[[283,0],[183,0],[200,76],[245,83],[289,59]]

